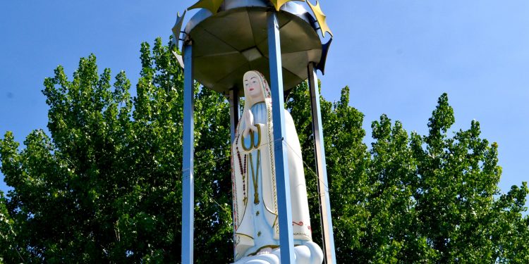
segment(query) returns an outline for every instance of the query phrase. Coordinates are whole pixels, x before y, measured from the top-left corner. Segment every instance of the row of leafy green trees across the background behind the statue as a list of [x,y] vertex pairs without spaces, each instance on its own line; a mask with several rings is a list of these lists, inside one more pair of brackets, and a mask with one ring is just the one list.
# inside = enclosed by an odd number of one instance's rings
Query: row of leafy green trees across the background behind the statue
[[[20,146],[0,140],[0,262],[178,263],[181,246],[183,75],[168,46],[142,44],[137,96],[125,73],[111,80],[95,56],[73,80],[63,68],[44,80],[49,133]],[[195,258],[230,263],[229,104],[195,94]],[[408,134],[382,115],[363,143],[363,114],[321,99],[339,263],[529,263],[528,187],[497,186],[497,144],[480,125],[451,133],[446,94],[428,122]],[[310,98],[288,97],[305,160],[314,237],[320,243]],[[452,134],[449,136],[449,134]]]

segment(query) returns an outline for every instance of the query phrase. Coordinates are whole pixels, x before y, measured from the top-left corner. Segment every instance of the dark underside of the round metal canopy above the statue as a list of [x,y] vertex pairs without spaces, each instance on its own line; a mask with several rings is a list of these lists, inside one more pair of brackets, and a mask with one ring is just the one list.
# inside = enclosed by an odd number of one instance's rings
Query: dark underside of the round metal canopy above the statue
[[[186,26],[184,40],[193,43],[195,80],[223,94],[236,88],[241,95],[248,70],[258,70],[270,80],[267,11],[272,10],[269,1],[226,0],[215,15],[207,9],[197,12]],[[322,42],[315,18],[301,4],[288,2],[277,16],[288,91],[307,80],[309,63],[320,62]]]

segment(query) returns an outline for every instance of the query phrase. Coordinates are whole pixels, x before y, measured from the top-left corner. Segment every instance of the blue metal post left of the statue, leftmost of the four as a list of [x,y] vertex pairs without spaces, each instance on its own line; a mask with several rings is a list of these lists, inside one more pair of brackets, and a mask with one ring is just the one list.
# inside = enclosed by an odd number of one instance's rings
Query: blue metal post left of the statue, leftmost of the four
[[193,47],[184,44],[183,80],[183,162],[182,162],[182,263],[193,263],[193,231],[195,229],[195,179],[193,154],[195,153],[195,120],[193,118]]

